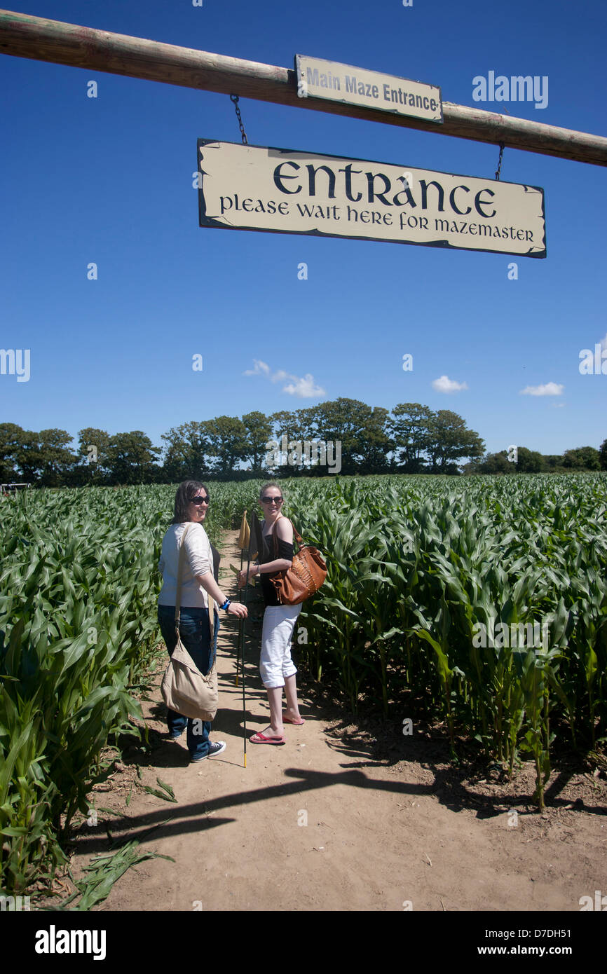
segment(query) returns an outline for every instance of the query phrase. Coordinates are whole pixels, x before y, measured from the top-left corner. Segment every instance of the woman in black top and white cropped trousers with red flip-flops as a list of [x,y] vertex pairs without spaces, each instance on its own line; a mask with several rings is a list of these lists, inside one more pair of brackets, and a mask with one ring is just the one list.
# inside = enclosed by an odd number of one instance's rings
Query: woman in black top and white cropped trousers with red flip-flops
[[[270,726],[254,733],[249,740],[253,744],[285,744],[284,724],[303,724],[297,704],[295,673],[291,659],[291,636],[301,605],[281,605],[272,576],[290,568],[293,560],[293,528],[281,513],[283,494],[278,484],[264,484],[259,493],[264,520],[261,522],[262,550],[257,564],[250,565],[248,578],[259,574],[265,611],[261,632],[261,657],[259,671],[270,703]],[[278,542],[278,558],[275,556],[274,536]],[[247,582],[247,569],[239,574],[239,587]],[[283,688],[286,709],[283,712]]]

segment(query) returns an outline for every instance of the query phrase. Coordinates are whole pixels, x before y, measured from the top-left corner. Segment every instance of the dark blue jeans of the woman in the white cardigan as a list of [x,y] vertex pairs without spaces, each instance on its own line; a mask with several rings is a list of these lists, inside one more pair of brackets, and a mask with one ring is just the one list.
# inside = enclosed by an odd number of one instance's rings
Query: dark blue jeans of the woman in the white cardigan
[[[175,635],[175,607],[158,607],[158,624],[167,644],[169,656],[177,645]],[[209,632],[209,609],[199,609],[195,606],[188,608],[181,606],[179,618],[179,636],[186,650],[198,666],[201,673],[209,673],[217,652],[217,632],[219,617],[215,613],[215,625],[212,644]],[[187,727],[187,745],[193,758],[202,758],[209,754],[210,721],[200,721],[192,717],[184,717],[174,710],[167,711],[167,726],[170,733],[183,731]],[[202,731],[201,731],[202,728]]]

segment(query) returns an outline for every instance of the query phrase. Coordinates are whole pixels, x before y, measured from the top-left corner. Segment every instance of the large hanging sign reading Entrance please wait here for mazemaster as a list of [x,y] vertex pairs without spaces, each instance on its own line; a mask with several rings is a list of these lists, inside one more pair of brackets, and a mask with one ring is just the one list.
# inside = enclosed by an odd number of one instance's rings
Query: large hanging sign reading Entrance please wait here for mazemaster
[[200,225],[546,257],[537,186],[198,140]]

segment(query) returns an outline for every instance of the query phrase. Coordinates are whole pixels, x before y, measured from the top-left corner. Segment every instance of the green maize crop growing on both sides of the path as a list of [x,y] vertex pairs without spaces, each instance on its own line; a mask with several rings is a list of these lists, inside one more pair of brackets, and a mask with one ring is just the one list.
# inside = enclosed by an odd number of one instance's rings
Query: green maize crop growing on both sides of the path
[[[214,543],[262,481],[209,482]],[[317,680],[357,712],[444,720],[454,757],[532,760],[607,735],[607,475],[292,478],[285,508],[327,563],[301,624]],[[63,860],[158,639],[173,486],[27,492],[1,504],[0,886]],[[540,637],[540,638],[538,638]],[[403,712],[403,701],[406,712]],[[45,872],[46,871],[46,872]]]

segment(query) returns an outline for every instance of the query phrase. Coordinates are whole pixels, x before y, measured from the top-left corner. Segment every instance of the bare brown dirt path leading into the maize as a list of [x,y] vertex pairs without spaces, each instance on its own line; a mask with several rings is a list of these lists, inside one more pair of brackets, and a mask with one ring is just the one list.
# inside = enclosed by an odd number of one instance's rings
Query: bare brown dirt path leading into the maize
[[[226,534],[226,570],[230,562],[240,564],[236,537]],[[233,586],[229,571],[224,577],[224,586]],[[305,695],[306,724],[285,729],[283,747],[248,744],[244,768],[236,634],[236,621],[222,619],[222,709],[211,738],[226,740],[226,751],[190,765],[185,735],[158,739],[142,766],[143,780],[158,787],[158,776],[170,784],[176,805],[140,791],[129,807],[124,790],[95,795],[97,805],[128,815],[113,822],[114,838],[137,838],[171,818],[141,844],[175,860],[134,867],[99,910],[401,911],[409,903],[415,911],[579,911],[581,896],[607,890],[607,809],[599,779],[593,791],[579,779],[566,783],[544,817],[525,813],[520,798],[512,816],[508,797],[500,800],[493,790],[488,814],[482,795],[464,788],[461,776],[454,785],[451,772],[433,764],[431,749],[425,764],[406,760],[412,739],[401,737],[396,758],[378,760],[368,733],[337,733],[335,712]],[[161,700],[158,687],[151,695]],[[144,706],[150,727],[164,733],[162,703]],[[268,713],[251,658],[247,732],[265,727]],[[580,810],[581,794],[587,801]],[[107,847],[100,825],[84,828],[76,875]]]

